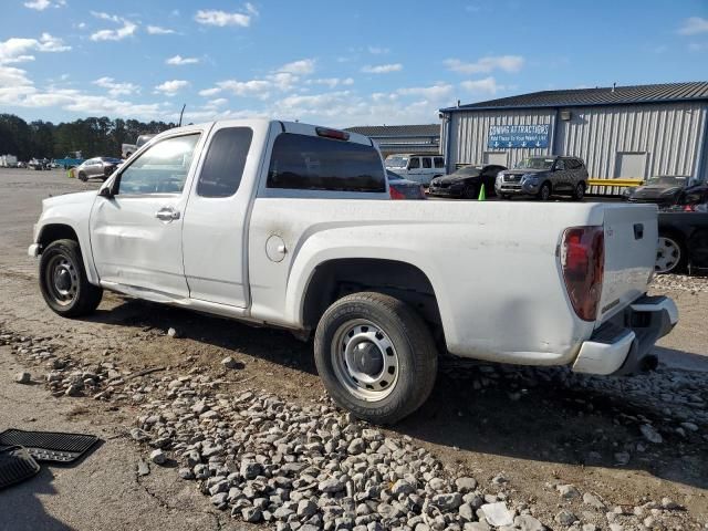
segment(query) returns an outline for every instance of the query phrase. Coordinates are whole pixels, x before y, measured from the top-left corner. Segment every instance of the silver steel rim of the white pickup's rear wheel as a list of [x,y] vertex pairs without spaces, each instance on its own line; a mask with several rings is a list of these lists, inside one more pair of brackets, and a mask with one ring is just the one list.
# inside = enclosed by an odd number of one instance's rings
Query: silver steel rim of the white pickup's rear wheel
[[360,399],[378,402],[396,387],[398,354],[388,334],[371,321],[355,320],[340,326],[331,356],[339,383]]

